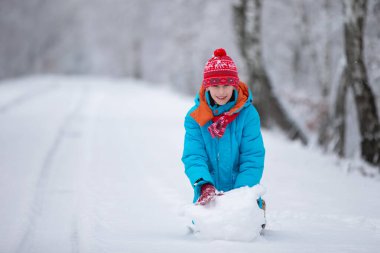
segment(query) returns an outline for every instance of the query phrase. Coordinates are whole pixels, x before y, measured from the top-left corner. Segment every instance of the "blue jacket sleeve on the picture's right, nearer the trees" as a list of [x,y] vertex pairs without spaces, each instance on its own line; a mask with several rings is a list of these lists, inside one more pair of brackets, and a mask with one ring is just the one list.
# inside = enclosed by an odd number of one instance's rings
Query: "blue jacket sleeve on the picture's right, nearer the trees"
[[260,183],[264,170],[265,149],[260,131],[260,117],[255,107],[247,108],[240,143],[240,166],[234,188]]

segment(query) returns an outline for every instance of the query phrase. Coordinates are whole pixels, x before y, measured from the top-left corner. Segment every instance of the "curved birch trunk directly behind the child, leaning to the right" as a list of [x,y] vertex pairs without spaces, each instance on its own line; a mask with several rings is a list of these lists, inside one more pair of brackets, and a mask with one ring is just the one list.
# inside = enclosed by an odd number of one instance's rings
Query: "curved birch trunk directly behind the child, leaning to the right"
[[291,139],[299,139],[307,144],[306,135],[291,119],[273,92],[262,57],[261,14],[261,0],[240,0],[239,5],[234,6],[238,44],[248,67],[248,84],[253,90],[254,104],[264,127],[271,127],[276,123]]

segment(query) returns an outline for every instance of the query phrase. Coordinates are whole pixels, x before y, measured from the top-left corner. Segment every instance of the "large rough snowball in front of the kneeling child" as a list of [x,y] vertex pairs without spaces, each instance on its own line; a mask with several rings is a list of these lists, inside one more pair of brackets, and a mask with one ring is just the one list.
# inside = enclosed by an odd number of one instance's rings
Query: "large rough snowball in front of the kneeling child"
[[257,204],[264,191],[261,185],[234,189],[206,206],[189,206],[185,215],[194,221],[193,230],[198,238],[252,241],[260,235],[265,223],[264,211]]

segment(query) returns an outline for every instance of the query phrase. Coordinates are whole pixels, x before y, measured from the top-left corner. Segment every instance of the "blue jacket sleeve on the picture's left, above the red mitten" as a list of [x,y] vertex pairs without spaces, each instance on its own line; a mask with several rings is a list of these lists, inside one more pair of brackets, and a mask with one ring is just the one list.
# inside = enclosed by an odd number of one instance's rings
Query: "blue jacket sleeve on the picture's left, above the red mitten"
[[[194,188],[195,202],[200,195],[200,186],[204,183],[214,184],[214,182],[207,165],[208,156],[200,126],[189,115],[185,118],[185,130],[182,162],[185,165],[185,173]],[[197,182],[199,179],[203,180]]]

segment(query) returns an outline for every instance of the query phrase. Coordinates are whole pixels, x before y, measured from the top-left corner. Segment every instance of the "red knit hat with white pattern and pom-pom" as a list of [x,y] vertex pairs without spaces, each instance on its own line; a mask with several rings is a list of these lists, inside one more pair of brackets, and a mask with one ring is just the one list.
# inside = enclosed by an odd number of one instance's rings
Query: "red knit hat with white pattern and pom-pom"
[[216,49],[203,71],[203,86],[232,85],[238,87],[239,76],[234,61],[223,48]]

